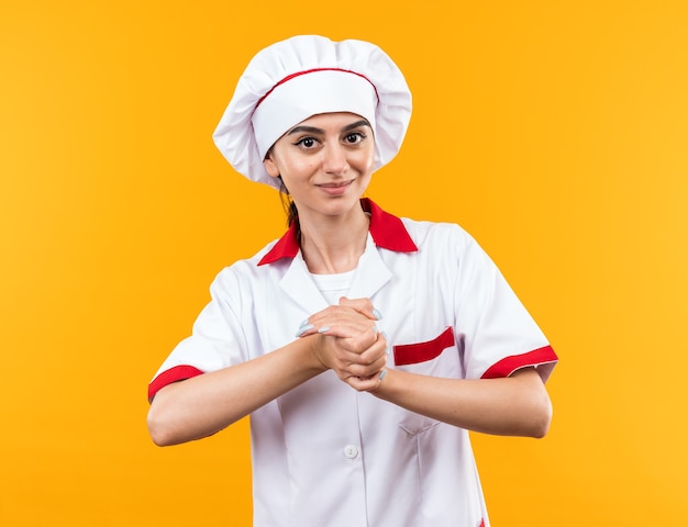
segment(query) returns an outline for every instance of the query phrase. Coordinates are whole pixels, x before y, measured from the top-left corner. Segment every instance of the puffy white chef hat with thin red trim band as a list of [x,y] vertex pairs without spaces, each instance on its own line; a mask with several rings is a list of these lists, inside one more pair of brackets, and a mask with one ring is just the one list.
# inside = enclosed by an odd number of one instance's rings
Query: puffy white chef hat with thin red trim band
[[248,63],[213,139],[236,171],[279,188],[263,166],[268,149],[301,121],[329,112],[368,120],[378,169],[399,152],[411,119],[411,93],[397,65],[374,44],[295,36]]

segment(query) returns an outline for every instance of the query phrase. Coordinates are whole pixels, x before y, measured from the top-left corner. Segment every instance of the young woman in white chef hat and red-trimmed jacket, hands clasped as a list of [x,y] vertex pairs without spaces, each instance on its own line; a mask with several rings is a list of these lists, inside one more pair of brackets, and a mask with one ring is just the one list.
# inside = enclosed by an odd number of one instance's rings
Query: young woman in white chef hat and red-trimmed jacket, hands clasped
[[149,386],[158,445],[251,415],[254,525],[488,525],[468,431],[542,437],[557,358],[460,227],[363,199],[411,96],[377,46],[298,36],[248,64],[215,131],[291,200],[222,270]]

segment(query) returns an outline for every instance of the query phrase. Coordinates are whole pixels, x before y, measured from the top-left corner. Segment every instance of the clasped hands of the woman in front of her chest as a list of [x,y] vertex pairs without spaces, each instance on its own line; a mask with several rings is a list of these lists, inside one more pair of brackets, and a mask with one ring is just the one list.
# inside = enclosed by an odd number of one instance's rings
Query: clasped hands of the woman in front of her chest
[[377,328],[380,313],[369,299],[340,299],[339,305],[308,317],[299,327],[299,338],[313,340],[312,354],[323,371],[358,391],[379,386],[387,365],[387,338]]

